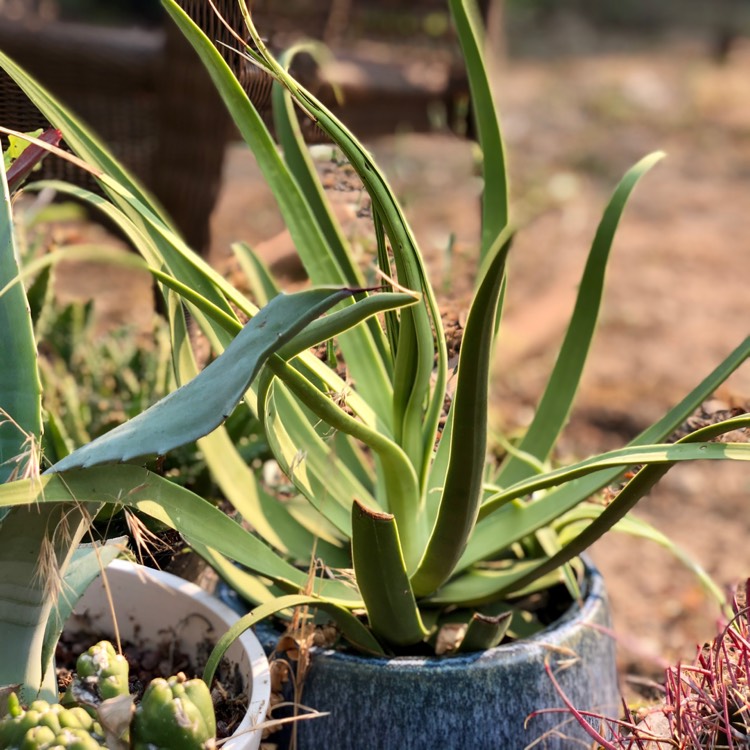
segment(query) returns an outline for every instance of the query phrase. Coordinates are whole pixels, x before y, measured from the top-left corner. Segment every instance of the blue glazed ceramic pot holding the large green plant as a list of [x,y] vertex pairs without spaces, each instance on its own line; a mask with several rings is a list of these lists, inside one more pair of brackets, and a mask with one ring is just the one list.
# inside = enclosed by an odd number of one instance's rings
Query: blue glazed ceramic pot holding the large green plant
[[[617,715],[615,643],[604,582],[589,569],[582,606],[532,638],[467,656],[380,659],[317,650],[302,702],[330,716],[300,722],[300,750],[589,747],[566,713],[527,717],[563,702],[545,671],[581,709]],[[278,633],[258,636],[273,649]],[[577,741],[578,740],[578,741]],[[588,744],[580,744],[580,741]]]

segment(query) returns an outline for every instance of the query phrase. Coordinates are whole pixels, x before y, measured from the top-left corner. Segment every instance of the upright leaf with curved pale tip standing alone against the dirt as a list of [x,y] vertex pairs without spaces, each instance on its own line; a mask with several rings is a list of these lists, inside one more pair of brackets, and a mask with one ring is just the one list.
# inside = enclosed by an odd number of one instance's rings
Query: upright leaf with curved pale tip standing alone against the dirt
[[[656,164],[663,153],[657,152],[641,159],[622,178],[604,211],[591,245],[586,267],[578,288],[573,316],[568,324],[557,362],[547,382],[534,419],[518,446],[519,450],[546,461],[568,421],[583,367],[599,317],[605,271],[617,225],[628,198],[638,181]],[[513,456],[500,470],[497,482],[508,486],[532,473],[524,461]]]

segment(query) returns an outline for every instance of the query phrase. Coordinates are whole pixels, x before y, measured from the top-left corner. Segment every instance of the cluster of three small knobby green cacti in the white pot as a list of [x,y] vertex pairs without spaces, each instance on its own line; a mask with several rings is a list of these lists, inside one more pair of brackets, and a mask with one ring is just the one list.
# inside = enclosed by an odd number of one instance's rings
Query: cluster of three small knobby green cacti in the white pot
[[[111,643],[100,641],[78,657],[76,675],[62,703],[37,700],[23,708],[18,696],[10,695],[8,713],[0,719],[0,750],[107,748],[98,707],[127,695],[127,660]],[[125,730],[128,734],[127,725]],[[216,718],[208,686],[182,672],[152,680],[129,730],[132,750],[213,748]]]

